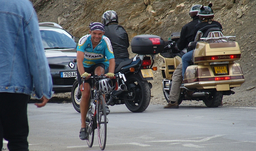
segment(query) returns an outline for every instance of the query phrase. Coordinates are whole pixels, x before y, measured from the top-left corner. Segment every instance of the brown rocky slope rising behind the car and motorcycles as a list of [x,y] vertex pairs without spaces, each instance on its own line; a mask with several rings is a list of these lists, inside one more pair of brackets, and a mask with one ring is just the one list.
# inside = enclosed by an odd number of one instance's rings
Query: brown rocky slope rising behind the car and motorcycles
[[[31,1],[40,22],[56,22],[76,37],[88,34],[90,22],[101,22],[101,16],[105,11],[114,10],[118,14],[119,24],[125,27],[130,40],[140,34],[158,35],[167,40],[171,33],[180,32],[182,26],[191,21],[188,15],[191,6],[194,4],[208,5],[210,2],[209,0]],[[242,93],[247,87],[254,86],[256,83],[254,68],[256,65],[256,1],[212,0],[211,2],[215,13],[214,19],[222,24],[224,35],[237,36],[237,42],[242,51],[241,59],[237,62],[242,65],[246,79],[243,86],[237,88]],[[131,51],[130,55],[134,56]],[[161,62],[161,59],[156,58],[156,64],[159,67]],[[156,78],[152,82],[153,86],[159,85],[161,83],[160,72],[155,72],[154,75]],[[249,99],[253,98],[249,97]]]

